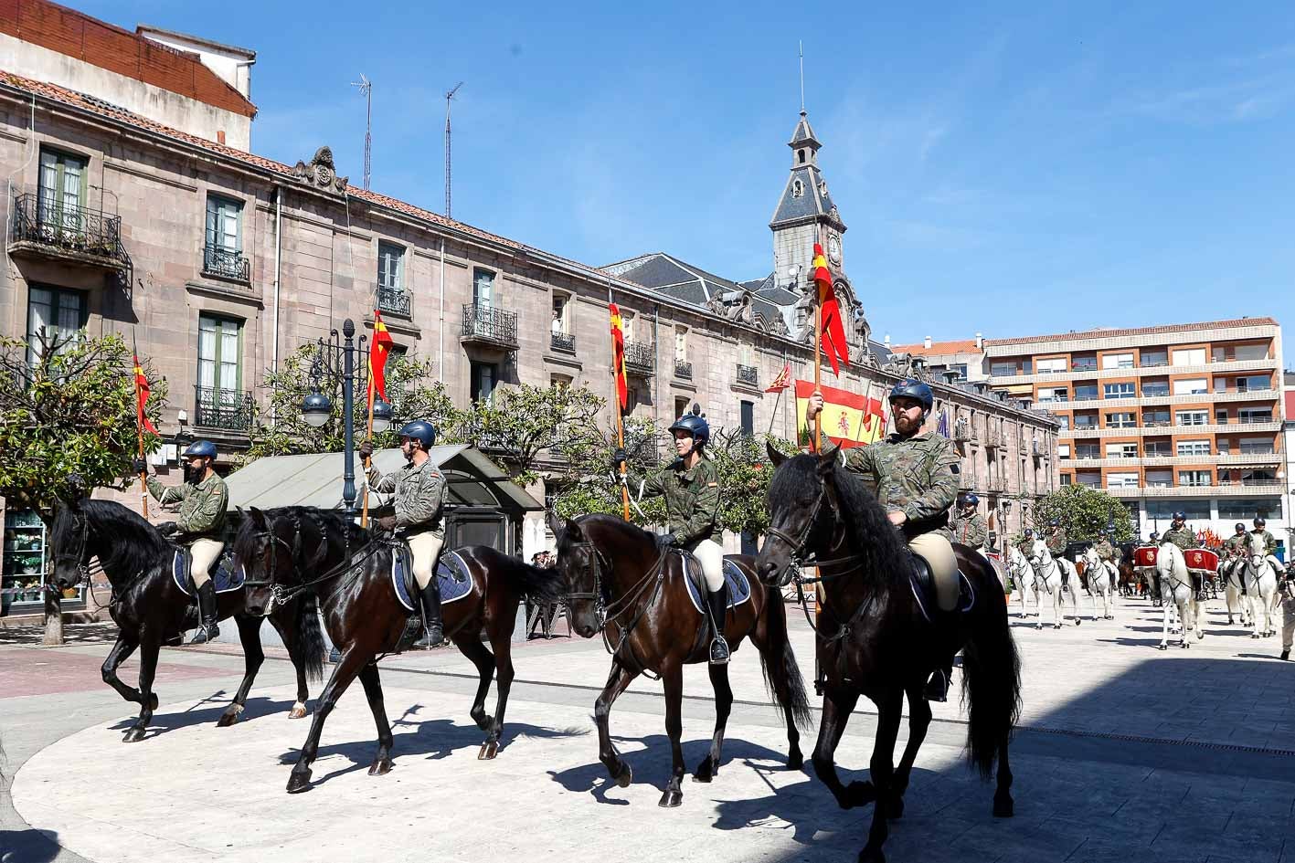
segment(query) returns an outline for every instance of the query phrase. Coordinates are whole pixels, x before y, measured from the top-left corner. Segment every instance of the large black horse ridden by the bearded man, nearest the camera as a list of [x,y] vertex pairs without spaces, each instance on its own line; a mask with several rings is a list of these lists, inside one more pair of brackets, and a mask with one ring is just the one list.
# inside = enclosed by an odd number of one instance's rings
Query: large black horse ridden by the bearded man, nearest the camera
[[[875,801],[860,860],[884,860],[887,818],[904,813],[904,792],[931,722],[922,697],[930,674],[962,650],[967,704],[967,756],[988,778],[998,762],[993,814],[1013,814],[1008,743],[1020,712],[1020,661],[1008,626],[1002,586],[976,551],[954,545],[958,568],[975,599],[962,613],[935,624],[921,612],[909,582],[912,559],[903,536],[862,483],[840,467],[835,448],[787,458],[769,446],[777,466],[769,485],[772,527],[756,568],[769,585],[786,585],[800,564],[818,562],[824,607],[817,655],[822,673],[822,722],[813,752],[818,778],[842,809]],[[878,710],[872,781],[848,787],[834,753],[860,695]],[[908,696],[909,739],[895,770],[895,741]]]

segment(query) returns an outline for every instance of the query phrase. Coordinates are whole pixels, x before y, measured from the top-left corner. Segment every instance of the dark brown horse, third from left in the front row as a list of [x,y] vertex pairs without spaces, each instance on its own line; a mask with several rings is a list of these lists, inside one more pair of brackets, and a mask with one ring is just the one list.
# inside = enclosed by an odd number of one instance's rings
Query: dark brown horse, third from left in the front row
[[[655,534],[613,515],[585,515],[562,523],[550,514],[549,525],[558,537],[558,571],[570,589],[571,625],[584,638],[601,630],[611,652],[607,684],[594,703],[598,758],[620,787],[633,781],[633,771],[611,743],[607,716],[636,677],[659,675],[666,688],[666,734],[673,759],[660,806],[679,806],[684,798],[680,745],[684,665],[710,659],[710,621],[689,599],[682,556],[662,551]],[[796,726],[808,722],[809,701],[787,640],[782,598],[777,591],[764,590],[750,556],[728,559],[746,574],[751,596],[729,609],[724,637],[734,652],[745,638],[760,651],[765,681],[786,717],[787,767],[799,770],[803,758]],[[699,567],[695,562],[693,565]],[[715,688],[715,734],[710,752],[693,774],[695,781],[711,781],[719,774],[724,728],[733,706],[728,665],[711,665],[710,674]]]

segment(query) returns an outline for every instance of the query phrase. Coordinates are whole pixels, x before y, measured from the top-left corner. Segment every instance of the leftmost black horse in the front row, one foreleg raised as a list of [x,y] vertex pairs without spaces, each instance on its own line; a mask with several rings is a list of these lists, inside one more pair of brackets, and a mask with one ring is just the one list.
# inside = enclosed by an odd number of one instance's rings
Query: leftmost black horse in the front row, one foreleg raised
[[[237,515],[231,514],[231,520]],[[89,562],[98,558],[104,574],[113,586],[109,613],[117,624],[117,643],[104,660],[104,682],[127,701],[140,705],[140,716],[126,731],[126,743],[144,739],[158,696],[153,691],[158,651],[162,644],[176,642],[197,626],[193,600],[171,577],[175,546],[140,515],[113,501],[83,498],[60,506],[51,532],[54,552],[54,587],[75,587],[89,578]],[[242,640],[243,679],[233,701],[216,722],[231,726],[238,721],[247,691],[265,659],[260,647],[262,611],[247,604],[247,591],[236,590],[218,595],[220,620],[234,617]],[[278,630],[284,646],[297,668],[297,704],[291,718],[306,716],[307,679],[324,675],[324,635],[319,615],[310,599],[297,600],[275,611],[269,622]],[[140,687],[126,686],[117,677],[117,666],[139,648]]]

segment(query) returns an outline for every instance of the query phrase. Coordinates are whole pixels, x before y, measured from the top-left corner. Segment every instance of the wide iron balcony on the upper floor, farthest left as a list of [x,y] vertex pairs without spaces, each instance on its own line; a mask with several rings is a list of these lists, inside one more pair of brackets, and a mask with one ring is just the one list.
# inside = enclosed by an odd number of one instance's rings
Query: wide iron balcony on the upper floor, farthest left
[[35,191],[13,197],[9,254],[101,268],[123,276],[131,270],[131,256],[122,245],[120,216],[56,204],[51,197]]

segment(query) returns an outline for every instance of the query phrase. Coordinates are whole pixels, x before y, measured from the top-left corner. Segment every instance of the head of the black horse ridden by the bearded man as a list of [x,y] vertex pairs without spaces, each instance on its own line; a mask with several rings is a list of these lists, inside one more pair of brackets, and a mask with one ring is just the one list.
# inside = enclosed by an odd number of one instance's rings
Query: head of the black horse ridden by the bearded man
[[767,444],[773,462],[769,529],[755,558],[755,572],[771,587],[785,587],[805,558],[826,550],[831,537],[837,448],[817,455],[783,455]]

